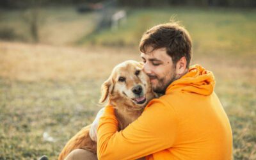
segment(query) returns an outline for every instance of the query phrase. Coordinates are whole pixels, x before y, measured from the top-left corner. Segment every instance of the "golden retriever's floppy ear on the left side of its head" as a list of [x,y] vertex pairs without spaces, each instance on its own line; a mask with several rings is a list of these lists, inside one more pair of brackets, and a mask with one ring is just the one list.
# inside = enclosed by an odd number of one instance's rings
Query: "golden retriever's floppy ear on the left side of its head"
[[109,94],[113,90],[113,81],[111,77],[101,85],[101,97],[99,102],[103,103],[108,98]]

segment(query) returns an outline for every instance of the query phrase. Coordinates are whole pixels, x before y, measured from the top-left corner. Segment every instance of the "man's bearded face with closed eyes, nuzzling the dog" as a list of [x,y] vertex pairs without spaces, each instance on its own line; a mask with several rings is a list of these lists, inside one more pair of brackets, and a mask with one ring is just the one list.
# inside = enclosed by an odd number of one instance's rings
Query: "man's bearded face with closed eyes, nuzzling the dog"
[[145,53],[141,52],[144,62],[143,70],[150,77],[152,88],[156,93],[165,93],[166,88],[177,79],[175,65],[165,48],[155,49],[147,47]]

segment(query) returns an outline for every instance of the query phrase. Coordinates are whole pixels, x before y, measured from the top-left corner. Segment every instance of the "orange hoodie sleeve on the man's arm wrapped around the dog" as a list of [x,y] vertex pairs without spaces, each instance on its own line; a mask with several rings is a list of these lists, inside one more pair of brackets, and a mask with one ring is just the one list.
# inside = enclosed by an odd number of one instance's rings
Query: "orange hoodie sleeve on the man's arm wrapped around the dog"
[[118,132],[113,107],[106,106],[99,120],[97,156],[99,159],[138,159],[172,147],[177,120],[170,105],[152,100],[142,115]]

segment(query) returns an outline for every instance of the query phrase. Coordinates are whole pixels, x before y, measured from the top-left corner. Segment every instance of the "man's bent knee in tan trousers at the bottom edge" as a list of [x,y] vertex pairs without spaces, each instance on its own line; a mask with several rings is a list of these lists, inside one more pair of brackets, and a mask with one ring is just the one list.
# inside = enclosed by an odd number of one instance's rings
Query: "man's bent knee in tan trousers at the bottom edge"
[[68,156],[65,160],[97,160],[97,155],[93,152],[83,149],[75,149]]

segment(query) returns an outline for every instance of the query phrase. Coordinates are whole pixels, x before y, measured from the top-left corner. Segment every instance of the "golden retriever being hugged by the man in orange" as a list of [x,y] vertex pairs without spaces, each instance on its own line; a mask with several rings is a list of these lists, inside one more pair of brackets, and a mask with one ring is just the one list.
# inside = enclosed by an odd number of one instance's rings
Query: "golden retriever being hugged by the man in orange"
[[[149,100],[156,97],[150,79],[143,72],[143,64],[125,61],[113,68],[108,80],[102,84],[100,102],[108,101],[115,108],[119,129],[131,124],[143,112]],[[89,135],[90,125],[84,127],[65,145],[59,159],[65,159],[76,148],[97,152],[97,142]]]

